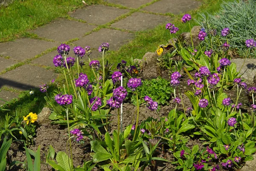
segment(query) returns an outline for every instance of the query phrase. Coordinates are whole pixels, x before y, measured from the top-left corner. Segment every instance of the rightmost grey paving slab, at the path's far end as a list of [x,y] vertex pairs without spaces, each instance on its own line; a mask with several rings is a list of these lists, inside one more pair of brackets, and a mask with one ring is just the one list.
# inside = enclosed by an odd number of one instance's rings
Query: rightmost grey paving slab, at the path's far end
[[160,0],[142,10],[155,13],[172,13],[180,14],[198,8],[201,3],[195,0]]

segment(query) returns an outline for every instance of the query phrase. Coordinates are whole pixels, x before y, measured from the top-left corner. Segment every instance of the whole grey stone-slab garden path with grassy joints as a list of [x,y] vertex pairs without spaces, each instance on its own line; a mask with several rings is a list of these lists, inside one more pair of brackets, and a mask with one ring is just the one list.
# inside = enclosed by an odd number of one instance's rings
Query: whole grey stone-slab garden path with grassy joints
[[117,50],[131,41],[135,32],[171,22],[170,14],[184,13],[201,4],[198,0],[105,1],[105,5],[77,9],[65,19],[31,30],[38,36],[36,39],[0,43],[0,88],[4,87],[0,98],[9,101],[23,90],[38,88],[56,78],[52,59],[60,43],[67,42],[70,49],[90,46],[91,58],[95,59],[101,43],[108,42],[110,50]]

